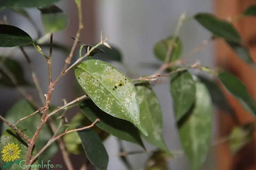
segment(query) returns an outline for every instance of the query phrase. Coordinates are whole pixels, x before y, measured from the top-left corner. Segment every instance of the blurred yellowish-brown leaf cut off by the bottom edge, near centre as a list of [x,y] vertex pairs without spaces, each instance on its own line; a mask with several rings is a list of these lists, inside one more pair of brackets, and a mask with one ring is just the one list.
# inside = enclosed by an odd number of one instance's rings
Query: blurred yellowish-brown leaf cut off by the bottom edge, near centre
[[154,152],[146,162],[145,170],[168,170],[170,156],[163,151]]

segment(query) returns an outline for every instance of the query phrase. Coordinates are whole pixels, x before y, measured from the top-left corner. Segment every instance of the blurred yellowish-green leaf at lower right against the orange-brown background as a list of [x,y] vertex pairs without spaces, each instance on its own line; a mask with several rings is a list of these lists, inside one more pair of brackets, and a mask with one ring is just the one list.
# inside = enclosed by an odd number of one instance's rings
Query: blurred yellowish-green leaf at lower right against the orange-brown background
[[253,139],[254,125],[248,123],[243,126],[235,126],[229,135],[229,147],[233,155]]

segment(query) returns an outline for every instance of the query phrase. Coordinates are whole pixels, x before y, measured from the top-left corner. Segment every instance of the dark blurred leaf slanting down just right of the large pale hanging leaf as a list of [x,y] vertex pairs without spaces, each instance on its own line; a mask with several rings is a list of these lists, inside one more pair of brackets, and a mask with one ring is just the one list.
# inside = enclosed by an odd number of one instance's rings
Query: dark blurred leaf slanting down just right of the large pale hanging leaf
[[216,107],[219,107],[221,110],[224,110],[227,113],[234,115],[232,107],[229,105],[225,94],[221,91],[216,81],[209,80],[204,77],[200,77],[200,80],[202,83],[204,83],[204,85],[206,85],[208,91],[210,92],[212,103]]

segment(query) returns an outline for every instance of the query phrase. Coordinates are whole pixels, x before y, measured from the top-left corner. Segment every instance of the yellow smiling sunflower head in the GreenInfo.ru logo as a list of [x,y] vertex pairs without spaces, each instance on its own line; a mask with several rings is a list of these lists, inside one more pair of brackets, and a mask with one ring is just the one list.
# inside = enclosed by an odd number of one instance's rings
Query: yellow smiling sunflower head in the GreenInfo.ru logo
[[15,159],[20,158],[19,155],[21,150],[18,150],[18,149],[19,149],[18,144],[8,143],[8,145],[5,145],[4,149],[1,152],[3,153],[2,160],[5,162],[8,162],[8,161],[13,162]]

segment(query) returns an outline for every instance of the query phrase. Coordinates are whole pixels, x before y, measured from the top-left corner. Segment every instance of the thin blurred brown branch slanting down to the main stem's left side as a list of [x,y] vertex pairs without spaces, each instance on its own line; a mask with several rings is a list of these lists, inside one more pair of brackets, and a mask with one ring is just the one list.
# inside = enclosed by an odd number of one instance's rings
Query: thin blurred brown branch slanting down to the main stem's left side
[[31,60],[30,60],[30,57],[28,56],[28,54],[25,52],[24,48],[20,46],[20,50],[22,52],[22,54],[24,55],[24,57],[26,58],[27,62],[28,62],[28,66],[29,66],[29,70],[31,72],[31,75],[32,75],[32,79],[33,79],[33,82],[36,86],[36,90],[38,92],[38,95],[39,95],[39,98],[42,102],[42,104],[44,105],[44,94],[43,94],[43,91],[42,91],[42,88],[38,82],[38,78],[36,76],[36,72],[34,71],[34,68],[33,68],[33,65],[31,63]]

